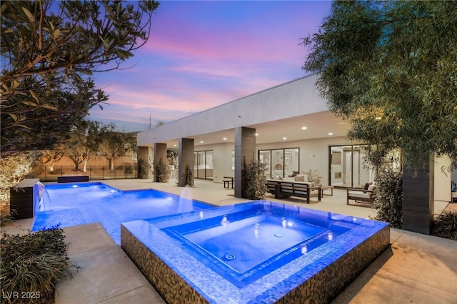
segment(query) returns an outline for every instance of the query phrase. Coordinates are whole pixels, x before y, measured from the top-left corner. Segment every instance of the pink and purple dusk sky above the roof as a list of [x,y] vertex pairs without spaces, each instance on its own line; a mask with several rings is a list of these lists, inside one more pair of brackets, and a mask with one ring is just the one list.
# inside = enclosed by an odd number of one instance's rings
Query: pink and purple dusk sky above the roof
[[96,75],[109,105],[92,120],[145,131],[291,81],[331,1],[160,1],[148,43],[123,68]]

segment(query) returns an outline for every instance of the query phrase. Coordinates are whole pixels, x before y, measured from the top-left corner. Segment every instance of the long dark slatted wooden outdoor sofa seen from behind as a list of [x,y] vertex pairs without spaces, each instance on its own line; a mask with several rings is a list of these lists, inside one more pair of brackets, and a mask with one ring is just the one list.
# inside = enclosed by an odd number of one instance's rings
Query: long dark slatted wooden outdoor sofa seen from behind
[[316,195],[312,192],[317,191],[318,201],[321,201],[321,187],[310,187],[308,183],[267,181],[266,188],[269,193],[274,194],[275,198],[298,196],[306,198],[306,203],[309,203],[311,196]]

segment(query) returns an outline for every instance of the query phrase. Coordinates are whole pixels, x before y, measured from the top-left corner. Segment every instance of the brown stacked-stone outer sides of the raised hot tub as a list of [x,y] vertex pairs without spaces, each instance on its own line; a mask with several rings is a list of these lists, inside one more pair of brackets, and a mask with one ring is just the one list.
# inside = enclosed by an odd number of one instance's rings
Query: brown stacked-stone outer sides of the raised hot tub
[[[328,303],[389,247],[389,241],[390,230],[386,226],[279,300],[271,288],[249,303]],[[124,226],[121,226],[121,247],[167,303],[209,303]],[[299,272],[293,274],[288,281],[303,280],[300,276]]]

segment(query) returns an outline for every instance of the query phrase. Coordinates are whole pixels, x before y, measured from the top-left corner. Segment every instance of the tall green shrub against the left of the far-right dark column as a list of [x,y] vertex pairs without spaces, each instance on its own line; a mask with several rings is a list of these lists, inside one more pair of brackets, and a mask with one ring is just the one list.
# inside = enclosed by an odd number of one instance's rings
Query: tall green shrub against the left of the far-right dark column
[[376,199],[374,208],[378,211],[375,220],[401,228],[403,214],[403,178],[400,172],[393,169],[380,171],[376,176]]

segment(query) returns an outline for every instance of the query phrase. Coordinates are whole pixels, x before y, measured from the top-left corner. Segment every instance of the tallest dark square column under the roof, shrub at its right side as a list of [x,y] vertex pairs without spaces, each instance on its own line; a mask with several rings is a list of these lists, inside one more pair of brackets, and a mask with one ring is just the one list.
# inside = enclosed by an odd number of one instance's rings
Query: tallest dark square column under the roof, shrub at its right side
[[255,158],[256,129],[235,128],[235,197],[245,198],[246,165]]

